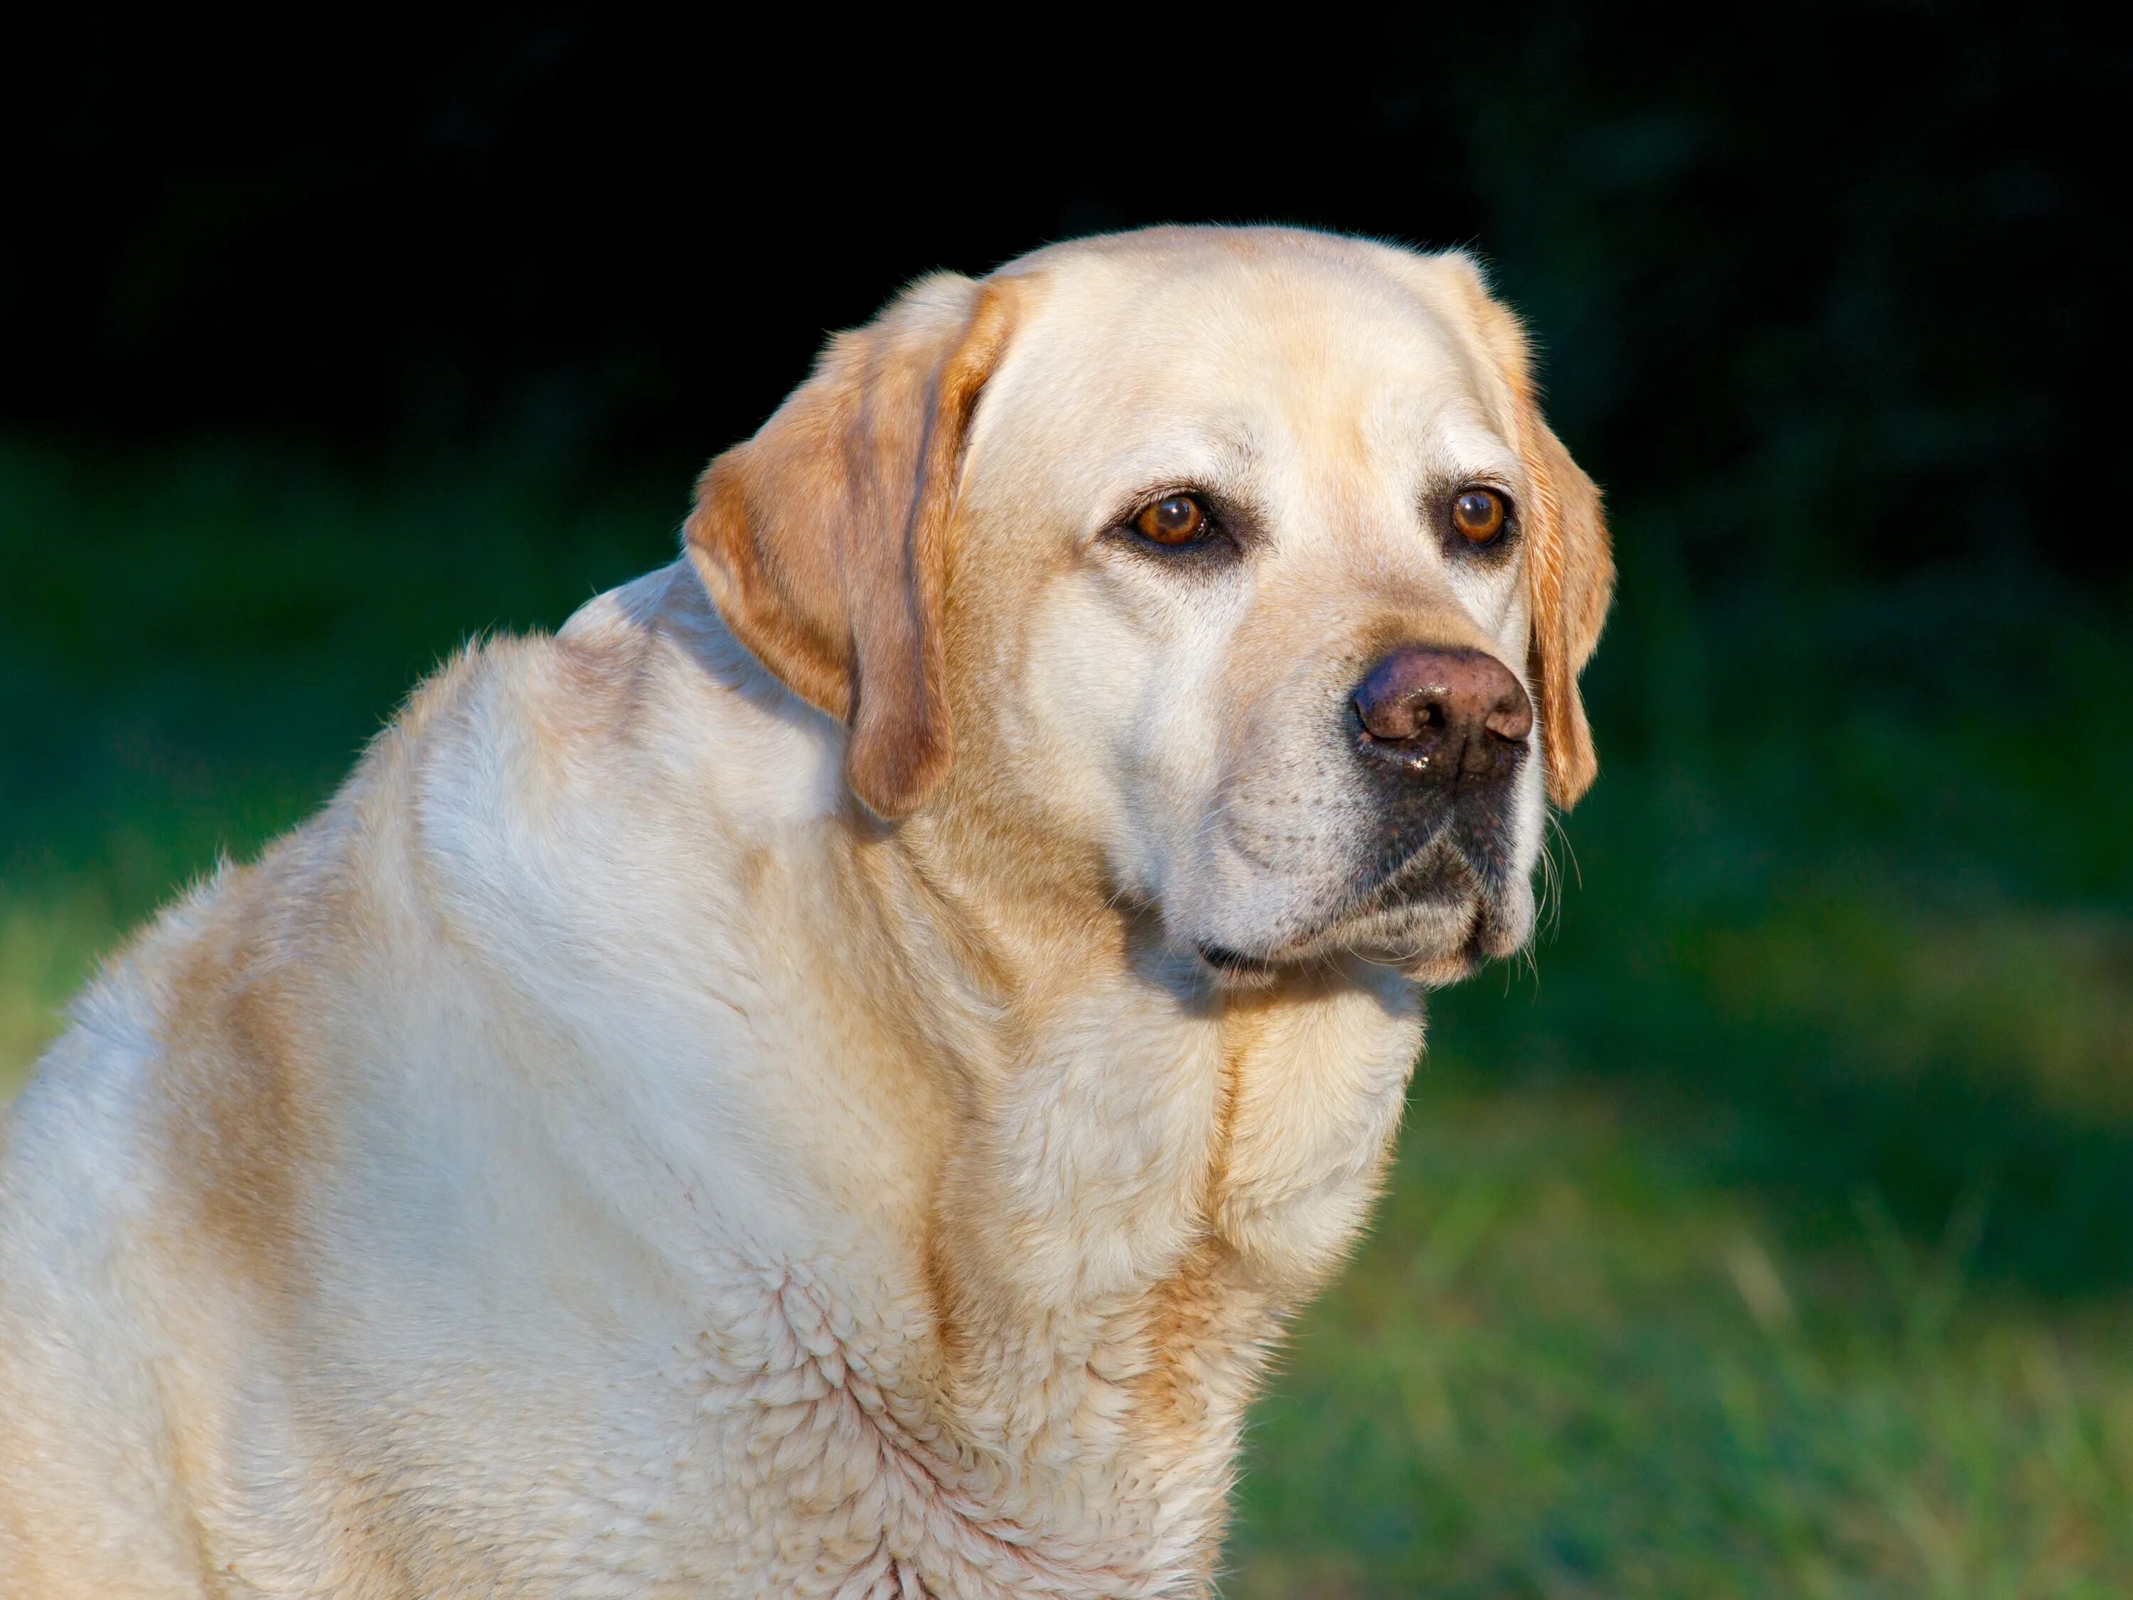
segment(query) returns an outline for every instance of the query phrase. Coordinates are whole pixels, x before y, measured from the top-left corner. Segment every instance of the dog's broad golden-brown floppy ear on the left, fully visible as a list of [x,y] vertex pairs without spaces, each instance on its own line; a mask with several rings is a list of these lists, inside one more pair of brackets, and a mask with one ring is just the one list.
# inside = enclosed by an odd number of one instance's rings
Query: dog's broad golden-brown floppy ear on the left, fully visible
[[734,636],[851,730],[845,781],[904,817],[953,753],[941,608],[956,480],[1011,324],[1005,284],[926,277],[836,335],[704,471],[687,546]]

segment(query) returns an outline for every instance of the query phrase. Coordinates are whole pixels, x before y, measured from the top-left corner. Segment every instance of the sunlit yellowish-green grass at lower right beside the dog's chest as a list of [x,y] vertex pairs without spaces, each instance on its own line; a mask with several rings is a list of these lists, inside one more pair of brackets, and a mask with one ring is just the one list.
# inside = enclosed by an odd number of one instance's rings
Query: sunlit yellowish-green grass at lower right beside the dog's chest
[[2122,1303],[1979,1295],[1990,1195],[1787,1242],[1634,1094],[1431,1071],[1258,1412],[1231,1594],[2103,1596]]

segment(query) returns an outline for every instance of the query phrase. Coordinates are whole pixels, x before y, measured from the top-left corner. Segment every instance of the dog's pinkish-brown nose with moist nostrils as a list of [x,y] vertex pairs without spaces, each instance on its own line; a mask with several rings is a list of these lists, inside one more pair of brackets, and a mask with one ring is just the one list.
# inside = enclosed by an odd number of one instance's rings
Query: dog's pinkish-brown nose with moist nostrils
[[1442,783],[1517,764],[1534,732],[1534,702],[1508,666],[1427,644],[1378,661],[1357,685],[1354,713],[1365,751]]

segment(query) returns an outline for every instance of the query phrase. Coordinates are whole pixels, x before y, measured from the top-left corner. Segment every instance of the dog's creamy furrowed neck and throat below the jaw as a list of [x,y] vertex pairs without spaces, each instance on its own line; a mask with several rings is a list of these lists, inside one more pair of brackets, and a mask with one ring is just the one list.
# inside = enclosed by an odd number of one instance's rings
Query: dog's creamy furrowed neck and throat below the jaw
[[953,1075],[926,1239],[945,1408],[1024,1474],[1103,1481],[1081,1500],[1154,1470],[1139,1536],[1212,1549],[1269,1348],[1376,1195],[1418,996],[1361,964],[1226,994],[988,834],[945,811],[828,836],[870,885],[866,943],[924,951],[915,1033]]

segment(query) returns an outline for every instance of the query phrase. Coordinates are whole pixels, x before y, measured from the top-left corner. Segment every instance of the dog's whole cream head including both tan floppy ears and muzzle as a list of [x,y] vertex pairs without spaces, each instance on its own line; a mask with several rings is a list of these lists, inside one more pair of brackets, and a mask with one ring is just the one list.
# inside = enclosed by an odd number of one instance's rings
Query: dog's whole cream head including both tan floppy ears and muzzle
[[900,819],[1026,819],[1231,979],[1517,949],[1600,497],[1459,254],[1165,228],[930,277],[706,471],[738,638]]

